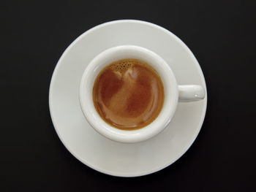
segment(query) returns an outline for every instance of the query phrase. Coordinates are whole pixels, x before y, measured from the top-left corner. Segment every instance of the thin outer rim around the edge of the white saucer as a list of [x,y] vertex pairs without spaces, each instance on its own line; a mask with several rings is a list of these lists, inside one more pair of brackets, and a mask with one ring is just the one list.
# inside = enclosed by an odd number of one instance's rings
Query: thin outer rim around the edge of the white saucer
[[[148,170],[148,171],[145,171],[145,172],[139,172],[136,173],[136,174],[132,174],[132,173],[124,173],[124,172],[109,172],[108,170],[105,170],[105,169],[100,169],[99,167],[97,166],[94,166],[93,164],[90,164],[88,161],[86,161],[85,159],[82,159],[80,158],[78,155],[75,154],[75,152],[73,152],[70,148],[69,148],[69,145],[67,144],[67,142],[64,142],[64,139],[61,137],[61,134],[59,133],[58,129],[56,128],[56,121],[54,116],[53,116],[53,112],[52,112],[52,90],[53,90],[53,82],[56,80],[56,74],[58,73],[59,71],[59,67],[61,66],[61,61],[63,60],[64,56],[69,52],[69,50],[80,40],[82,39],[84,36],[86,36],[87,34],[90,34],[90,33],[93,33],[95,30],[97,30],[98,28],[102,28],[104,26],[108,26],[108,25],[111,25],[111,24],[116,24],[116,23],[140,23],[140,24],[146,24],[148,26],[151,26],[151,27],[154,27],[154,28],[158,28],[159,30],[162,30],[162,31],[165,31],[165,33],[169,34],[170,36],[172,36],[173,38],[176,39],[176,41],[182,46],[184,47],[186,50],[187,50],[187,53],[189,53],[189,55],[191,56],[191,58],[195,61],[196,63],[196,68],[197,68],[197,71],[200,73],[201,77],[203,77],[202,81],[203,81],[203,87],[206,89],[206,97],[205,97],[205,101],[204,101],[204,104],[203,104],[203,112],[202,112],[202,115],[200,115],[200,123],[198,123],[198,128],[195,130],[195,136],[194,138],[192,139],[192,142],[190,142],[187,147],[184,147],[185,150],[181,151],[181,153],[179,153],[179,155],[176,155],[176,158],[174,158],[174,160],[166,163],[166,164],[160,164],[159,166],[157,166],[156,168],[154,169],[151,169],[151,170]],[[52,77],[51,77],[51,80],[50,80],[50,88],[49,88],[49,97],[48,97],[48,101],[49,101],[49,109],[50,109],[50,117],[51,117],[51,120],[53,122],[53,127],[56,131],[56,134],[58,135],[59,139],[61,140],[61,142],[63,143],[63,145],[67,148],[67,150],[69,151],[69,153],[71,153],[75,158],[77,158],[81,163],[85,164],[86,166],[89,166],[91,169],[94,169],[96,170],[97,172],[101,172],[101,173],[104,173],[104,174],[108,174],[108,175],[112,175],[112,176],[116,176],[116,177],[140,177],[140,176],[144,176],[144,175],[147,175],[147,174],[152,174],[154,172],[159,172],[160,170],[162,169],[165,169],[167,166],[170,166],[171,164],[175,163],[179,158],[181,158],[182,155],[184,155],[184,153],[187,152],[187,150],[189,150],[189,148],[192,146],[192,144],[195,142],[195,139],[197,138],[198,134],[200,133],[200,130],[203,126],[203,122],[204,122],[204,119],[206,117],[206,109],[207,109],[207,87],[206,87],[206,80],[205,80],[205,77],[203,75],[203,71],[202,69],[200,68],[200,64],[198,63],[197,59],[195,58],[195,55],[192,53],[192,51],[189,49],[189,47],[187,47],[187,45],[181,40],[179,39],[175,34],[173,34],[172,32],[168,31],[166,28],[163,28],[161,26],[157,26],[156,24],[154,23],[150,23],[148,21],[144,21],[144,20],[113,20],[113,21],[109,21],[109,22],[106,22],[106,23],[102,23],[102,24],[99,24],[98,26],[94,26],[93,28],[90,28],[88,31],[85,31],[83,32],[83,34],[80,34],[79,37],[77,37],[67,48],[66,50],[64,50],[64,53],[62,53],[61,57],[59,58],[59,61],[57,62],[56,64],[56,67],[55,69],[53,70],[53,74],[52,74]],[[87,121],[87,120],[86,120]],[[116,144],[118,144],[118,142],[116,142]]]

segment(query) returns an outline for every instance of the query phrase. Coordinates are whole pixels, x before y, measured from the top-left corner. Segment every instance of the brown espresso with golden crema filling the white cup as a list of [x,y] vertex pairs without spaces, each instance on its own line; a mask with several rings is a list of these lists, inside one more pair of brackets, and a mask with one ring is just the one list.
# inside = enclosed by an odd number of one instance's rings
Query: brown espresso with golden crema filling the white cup
[[162,80],[146,62],[134,58],[109,64],[97,76],[94,106],[115,128],[135,130],[157,118],[165,100]]

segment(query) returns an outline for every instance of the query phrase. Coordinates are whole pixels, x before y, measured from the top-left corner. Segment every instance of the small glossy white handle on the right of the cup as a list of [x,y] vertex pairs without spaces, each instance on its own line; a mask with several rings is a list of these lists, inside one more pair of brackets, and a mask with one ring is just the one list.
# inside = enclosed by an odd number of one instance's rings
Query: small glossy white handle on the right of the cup
[[201,85],[178,85],[178,101],[199,101],[205,96],[206,91]]

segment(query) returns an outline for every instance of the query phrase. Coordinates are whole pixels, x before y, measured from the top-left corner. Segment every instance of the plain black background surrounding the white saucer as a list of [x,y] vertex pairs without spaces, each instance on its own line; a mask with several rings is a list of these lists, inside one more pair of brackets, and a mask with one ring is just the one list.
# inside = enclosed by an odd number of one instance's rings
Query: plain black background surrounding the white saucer
[[[256,191],[256,1],[1,1],[0,191]],[[112,177],[75,159],[48,109],[67,46],[110,20],[156,23],[195,54],[208,87],[203,128],[175,164]]]

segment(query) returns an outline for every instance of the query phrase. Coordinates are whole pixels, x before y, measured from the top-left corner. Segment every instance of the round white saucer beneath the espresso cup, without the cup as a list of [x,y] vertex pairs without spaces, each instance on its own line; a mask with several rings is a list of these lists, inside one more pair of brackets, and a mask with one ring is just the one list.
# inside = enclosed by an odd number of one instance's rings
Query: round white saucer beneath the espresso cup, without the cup
[[138,45],[162,56],[178,84],[206,88],[195,56],[165,28],[138,20],[116,20],[91,28],[75,39],[61,55],[50,82],[50,115],[61,142],[78,160],[99,172],[135,177],[173,164],[194,142],[206,114],[207,98],[178,103],[165,131],[145,142],[123,144],[94,131],[80,110],[78,88],[86,65],[110,47]]

